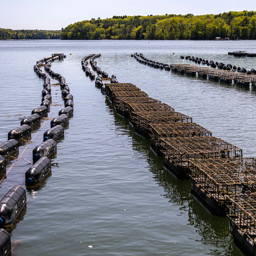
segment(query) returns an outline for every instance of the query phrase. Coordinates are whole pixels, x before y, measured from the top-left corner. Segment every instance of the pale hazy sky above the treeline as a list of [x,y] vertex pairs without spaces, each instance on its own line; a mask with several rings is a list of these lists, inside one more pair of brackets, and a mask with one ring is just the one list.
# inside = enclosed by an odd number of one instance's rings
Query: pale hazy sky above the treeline
[[61,29],[91,18],[113,15],[219,14],[256,11],[256,1],[241,0],[1,0],[0,28]]

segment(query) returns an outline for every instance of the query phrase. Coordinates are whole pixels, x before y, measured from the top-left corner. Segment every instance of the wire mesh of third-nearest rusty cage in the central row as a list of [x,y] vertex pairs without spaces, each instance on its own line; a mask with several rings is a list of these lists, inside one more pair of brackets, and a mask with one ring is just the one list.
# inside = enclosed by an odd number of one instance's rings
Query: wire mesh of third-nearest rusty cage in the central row
[[216,137],[173,137],[160,139],[163,154],[179,166],[193,159],[242,157],[241,148]]

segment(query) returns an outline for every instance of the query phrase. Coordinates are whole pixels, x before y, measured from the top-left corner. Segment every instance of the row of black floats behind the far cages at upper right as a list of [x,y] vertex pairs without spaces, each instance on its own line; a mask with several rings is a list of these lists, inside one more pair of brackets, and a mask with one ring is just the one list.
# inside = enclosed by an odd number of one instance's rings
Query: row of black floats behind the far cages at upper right
[[231,64],[224,64],[223,62],[214,62],[214,61],[208,61],[205,60],[204,58],[198,58],[198,57],[194,57],[194,56],[190,56],[190,55],[180,55],[181,59],[186,59],[189,61],[193,61],[195,62],[195,64],[202,64],[202,65],[207,65],[210,66],[212,68],[218,68],[221,70],[231,70],[233,72],[239,72],[239,73],[245,73],[247,75],[255,75],[256,74],[256,70],[255,69],[251,69],[251,70],[246,70],[244,67],[236,67],[235,65],[231,65]]

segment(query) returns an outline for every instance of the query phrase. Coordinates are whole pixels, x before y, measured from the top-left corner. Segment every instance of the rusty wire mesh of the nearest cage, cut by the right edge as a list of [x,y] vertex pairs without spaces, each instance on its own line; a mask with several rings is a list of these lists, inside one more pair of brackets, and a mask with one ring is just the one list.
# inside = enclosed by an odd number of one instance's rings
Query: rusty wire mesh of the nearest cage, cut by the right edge
[[233,228],[256,244],[256,193],[230,198],[227,215]]

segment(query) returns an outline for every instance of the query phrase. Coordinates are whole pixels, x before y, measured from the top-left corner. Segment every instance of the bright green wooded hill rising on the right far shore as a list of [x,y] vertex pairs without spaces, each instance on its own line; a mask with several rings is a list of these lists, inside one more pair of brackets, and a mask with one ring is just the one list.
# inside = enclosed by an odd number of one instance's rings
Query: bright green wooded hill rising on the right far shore
[[256,39],[256,12],[98,17],[70,24],[61,32],[61,39],[212,40],[216,37]]

